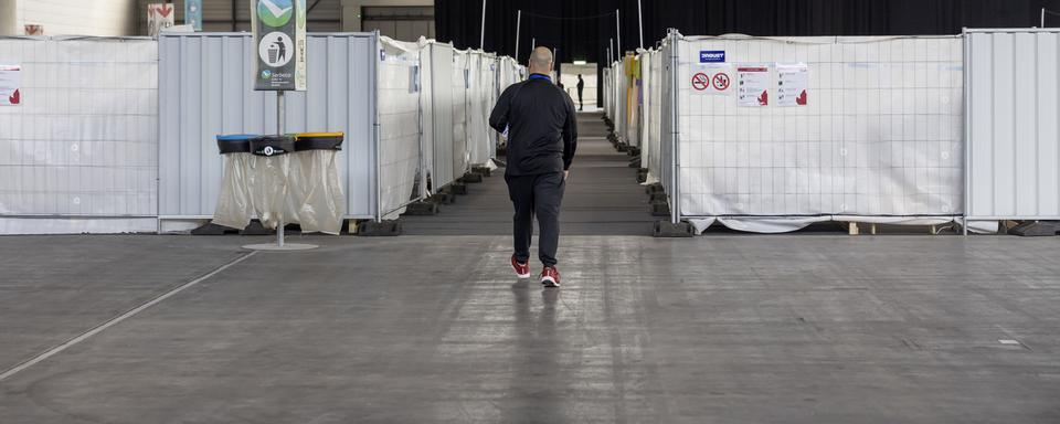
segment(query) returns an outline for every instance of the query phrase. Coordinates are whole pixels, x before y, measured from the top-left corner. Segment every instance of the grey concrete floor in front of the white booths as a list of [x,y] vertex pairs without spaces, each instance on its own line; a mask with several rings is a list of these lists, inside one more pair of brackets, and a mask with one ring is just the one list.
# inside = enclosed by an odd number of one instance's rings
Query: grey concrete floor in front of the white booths
[[[0,422],[1060,422],[1057,239],[568,236],[559,290],[505,236],[309,239],[0,381]],[[242,242],[0,239],[3,367]]]

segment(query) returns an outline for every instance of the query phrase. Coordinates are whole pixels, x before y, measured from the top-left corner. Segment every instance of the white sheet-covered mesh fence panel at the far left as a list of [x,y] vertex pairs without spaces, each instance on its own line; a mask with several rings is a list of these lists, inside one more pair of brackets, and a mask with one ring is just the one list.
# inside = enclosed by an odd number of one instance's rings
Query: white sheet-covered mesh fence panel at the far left
[[0,234],[156,230],[150,39],[0,38],[21,105],[0,106]]

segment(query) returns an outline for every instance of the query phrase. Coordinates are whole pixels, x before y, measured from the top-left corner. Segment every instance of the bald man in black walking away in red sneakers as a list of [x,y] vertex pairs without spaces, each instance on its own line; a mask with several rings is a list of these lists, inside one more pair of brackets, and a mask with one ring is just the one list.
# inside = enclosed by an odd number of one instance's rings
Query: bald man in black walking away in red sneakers
[[544,265],[541,284],[559,287],[555,251],[560,241],[560,203],[577,146],[577,124],[571,96],[549,77],[552,52],[534,49],[529,65],[527,81],[512,84],[500,95],[489,115],[489,126],[497,131],[508,128],[505,181],[516,209],[511,267],[519,278],[530,277],[530,239],[537,215],[541,227],[538,258]]

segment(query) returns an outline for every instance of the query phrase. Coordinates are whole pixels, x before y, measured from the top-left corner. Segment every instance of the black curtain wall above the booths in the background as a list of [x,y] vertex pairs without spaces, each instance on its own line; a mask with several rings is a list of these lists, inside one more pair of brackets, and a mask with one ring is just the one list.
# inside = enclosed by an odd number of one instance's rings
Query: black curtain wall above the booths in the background
[[[615,9],[622,19],[622,49],[639,46],[636,0],[486,1],[487,51],[515,54],[520,9],[520,56],[529,54],[530,40],[537,38],[538,44],[560,47],[558,62],[605,62],[607,40],[615,36]],[[1060,11],[1060,0],[643,0],[642,4],[645,46],[655,45],[667,28],[685,35],[956,34],[964,26],[1037,26],[1042,7]],[[481,0],[435,0],[437,39],[459,49],[478,47],[481,8]],[[1046,24],[1060,26],[1060,17],[1047,17]]]

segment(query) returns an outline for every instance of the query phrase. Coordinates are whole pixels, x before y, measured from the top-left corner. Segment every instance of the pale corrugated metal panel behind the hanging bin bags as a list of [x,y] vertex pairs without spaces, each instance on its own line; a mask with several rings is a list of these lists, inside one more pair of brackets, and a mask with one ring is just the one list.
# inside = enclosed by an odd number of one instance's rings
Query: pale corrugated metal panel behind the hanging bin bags
[[[159,215],[209,218],[221,188],[219,134],[274,134],[276,95],[254,92],[251,35],[168,34],[159,39]],[[347,214],[375,213],[375,39],[310,34],[309,89],[289,92],[289,132],[343,131],[339,157]]]

